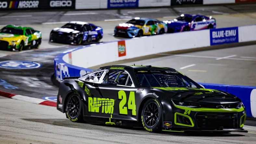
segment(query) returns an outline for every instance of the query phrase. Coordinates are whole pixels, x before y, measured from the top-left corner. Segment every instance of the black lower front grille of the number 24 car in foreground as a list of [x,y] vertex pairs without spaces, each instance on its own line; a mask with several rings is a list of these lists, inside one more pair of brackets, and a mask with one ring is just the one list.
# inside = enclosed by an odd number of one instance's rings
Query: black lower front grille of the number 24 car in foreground
[[199,129],[222,130],[239,128],[237,113],[204,113],[198,112],[196,124]]

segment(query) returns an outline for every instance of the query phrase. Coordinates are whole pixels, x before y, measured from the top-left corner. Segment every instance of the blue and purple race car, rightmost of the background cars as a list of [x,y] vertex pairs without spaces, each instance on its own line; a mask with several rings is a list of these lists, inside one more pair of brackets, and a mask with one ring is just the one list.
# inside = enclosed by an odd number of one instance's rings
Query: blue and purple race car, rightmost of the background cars
[[202,15],[182,14],[176,19],[164,22],[167,24],[168,33],[216,28],[215,18]]

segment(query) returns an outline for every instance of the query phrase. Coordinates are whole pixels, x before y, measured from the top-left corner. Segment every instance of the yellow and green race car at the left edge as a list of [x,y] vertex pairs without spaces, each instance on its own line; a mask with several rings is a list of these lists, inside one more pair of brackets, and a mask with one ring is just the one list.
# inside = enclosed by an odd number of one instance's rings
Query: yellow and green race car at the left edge
[[39,48],[42,33],[29,27],[7,25],[0,30],[0,50]]

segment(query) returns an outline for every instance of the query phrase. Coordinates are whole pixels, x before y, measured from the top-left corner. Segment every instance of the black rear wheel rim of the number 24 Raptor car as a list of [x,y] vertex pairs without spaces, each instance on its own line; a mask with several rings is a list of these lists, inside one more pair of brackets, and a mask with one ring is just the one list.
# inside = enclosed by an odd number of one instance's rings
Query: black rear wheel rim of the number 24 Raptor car
[[70,97],[68,104],[67,104],[67,111],[70,118],[77,117],[80,111],[80,100],[78,96],[73,95]]

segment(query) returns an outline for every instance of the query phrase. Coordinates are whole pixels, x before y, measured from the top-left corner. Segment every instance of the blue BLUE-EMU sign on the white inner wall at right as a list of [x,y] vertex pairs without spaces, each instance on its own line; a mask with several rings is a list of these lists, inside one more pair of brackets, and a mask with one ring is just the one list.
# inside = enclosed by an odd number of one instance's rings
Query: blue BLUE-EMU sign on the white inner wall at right
[[238,27],[211,29],[211,45],[238,42]]

